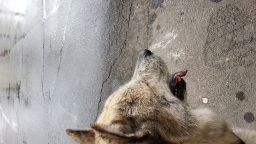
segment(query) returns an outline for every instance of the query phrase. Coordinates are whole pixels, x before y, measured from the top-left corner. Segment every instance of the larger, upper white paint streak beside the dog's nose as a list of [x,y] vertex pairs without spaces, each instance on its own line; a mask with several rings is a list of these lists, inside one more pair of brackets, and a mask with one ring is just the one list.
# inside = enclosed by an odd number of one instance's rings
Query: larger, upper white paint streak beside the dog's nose
[[159,49],[159,48],[165,49],[167,47],[167,45],[169,45],[172,42],[172,40],[175,39],[178,35],[179,34],[174,34],[174,31],[166,34],[162,38],[162,41],[151,45],[150,50]]

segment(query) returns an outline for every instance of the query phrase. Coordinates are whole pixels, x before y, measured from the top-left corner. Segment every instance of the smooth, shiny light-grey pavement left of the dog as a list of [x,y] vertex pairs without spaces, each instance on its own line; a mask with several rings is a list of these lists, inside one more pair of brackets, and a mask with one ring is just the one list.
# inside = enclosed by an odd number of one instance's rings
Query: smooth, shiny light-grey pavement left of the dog
[[2,13],[11,28],[3,31],[10,36],[0,57],[0,143],[73,142],[65,130],[88,127],[97,117],[109,2],[24,3],[19,15],[11,6]]

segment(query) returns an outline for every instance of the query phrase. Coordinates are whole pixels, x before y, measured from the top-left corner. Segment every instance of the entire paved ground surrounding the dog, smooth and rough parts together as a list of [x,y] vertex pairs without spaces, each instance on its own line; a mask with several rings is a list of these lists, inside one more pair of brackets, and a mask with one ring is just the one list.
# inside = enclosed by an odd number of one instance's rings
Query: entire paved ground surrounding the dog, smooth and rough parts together
[[[256,129],[256,1],[0,1],[0,143],[74,143],[137,55],[188,69],[188,102]],[[207,103],[202,99],[207,98]]]

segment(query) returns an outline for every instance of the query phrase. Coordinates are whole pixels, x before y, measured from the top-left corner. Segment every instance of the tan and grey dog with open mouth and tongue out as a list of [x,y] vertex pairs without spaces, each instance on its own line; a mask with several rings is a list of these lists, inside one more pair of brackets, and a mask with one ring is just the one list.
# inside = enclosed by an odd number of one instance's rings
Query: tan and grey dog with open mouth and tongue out
[[[68,129],[66,133],[86,144],[245,143],[246,139],[239,138],[243,130],[235,134],[212,110],[188,106],[186,83],[181,78],[186,74],[187,70],[181,70],[170,75],[161,57],[143,50],[131,81],[108,97],[91,129]],[[249,142],[255,144],[253,133]]]

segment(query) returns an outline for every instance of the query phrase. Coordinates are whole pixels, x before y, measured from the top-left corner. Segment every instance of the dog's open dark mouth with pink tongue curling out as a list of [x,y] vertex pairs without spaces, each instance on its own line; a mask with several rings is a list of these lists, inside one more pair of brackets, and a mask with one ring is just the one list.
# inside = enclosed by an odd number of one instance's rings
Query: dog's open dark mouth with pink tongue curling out
[[181,70],[177,73],[173,73],[169,77],[169,88],[172,94],[180,100],[184,100],[184,93],[186,91],[186,83],[184,81],[183,76],[186,76],[188,70]]

